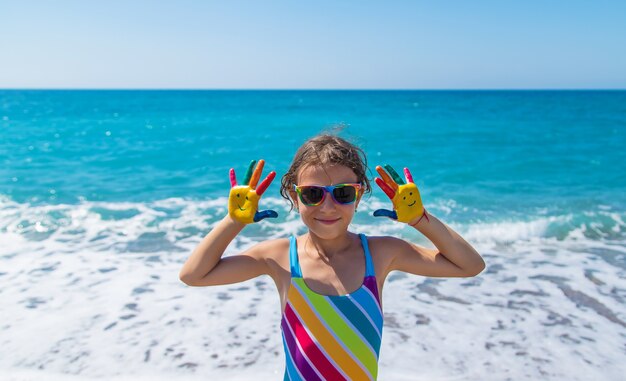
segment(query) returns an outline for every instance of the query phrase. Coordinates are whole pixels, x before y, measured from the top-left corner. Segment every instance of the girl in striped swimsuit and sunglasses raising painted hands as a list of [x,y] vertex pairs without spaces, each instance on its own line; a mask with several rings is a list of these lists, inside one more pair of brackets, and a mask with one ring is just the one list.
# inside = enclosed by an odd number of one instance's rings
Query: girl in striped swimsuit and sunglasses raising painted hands
[[221,258],[246,224],[276,217],[274,211],[257,210],[275,173],[256,187],[263,161],[254,173],[253,165],[244,180],[248,186],[237,186],[231,169],[229,214],[194,250],[180,279],[190,286],[214,286],[271,276],[281,301],[285,380],[375,380],[387,275],[396,270],[470,277],[485,267],[472,246],[426,212],[408,169],[404,183],[393,168],[386,166],[389,173],[376,168],[381,175],[376,183],[392,199],[394,210],[374,215],[419,230],[437,249],[350,232],[362,195],[371,191],[366,160],[361,149],[333,135],[305,142],[281,181],[282,196],[300,213],[308,232]]

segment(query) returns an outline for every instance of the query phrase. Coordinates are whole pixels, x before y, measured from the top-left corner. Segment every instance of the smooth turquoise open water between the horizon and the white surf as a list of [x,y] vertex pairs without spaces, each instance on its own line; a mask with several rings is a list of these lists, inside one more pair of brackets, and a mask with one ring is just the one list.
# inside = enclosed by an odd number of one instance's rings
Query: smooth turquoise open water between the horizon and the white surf
[[[280,175],[306,138],[344,125],[371,167],[408,166],[426,203],[461,205],[449,217],[457,222],[626,210],[621,91],[2,91],[0,99],[0,195],[20,203],[224,196],[230,167],[264,158]],[[278,196],[277,184],[268,195]]]

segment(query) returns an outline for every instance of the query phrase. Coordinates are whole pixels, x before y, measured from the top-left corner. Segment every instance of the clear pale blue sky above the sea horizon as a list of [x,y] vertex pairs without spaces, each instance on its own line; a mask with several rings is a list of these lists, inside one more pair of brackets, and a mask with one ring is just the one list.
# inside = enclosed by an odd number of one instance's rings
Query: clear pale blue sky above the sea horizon
[[624,0],[0,0],[0,88],[625,89]]

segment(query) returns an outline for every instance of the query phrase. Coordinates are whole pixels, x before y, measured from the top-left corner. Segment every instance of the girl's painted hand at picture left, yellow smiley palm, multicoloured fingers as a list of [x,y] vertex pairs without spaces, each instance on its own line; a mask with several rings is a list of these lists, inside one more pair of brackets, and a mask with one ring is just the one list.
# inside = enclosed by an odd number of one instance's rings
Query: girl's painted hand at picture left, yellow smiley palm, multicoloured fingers
[[[257,183],[261,178],[261,172],[263,172],[264,160],[259,160],[256,168],[254,168],[256,160],[250,162],[246,177],[243,180],[246,185],[237,185],[237,179],[235,177],[235,170],[230,169],[230,195],[228,196],[228,214],[236,221],[244,224],[251,224],[253,222],[259,222],[264,218],[276,218],[278,213],[273,210],[258,211],[259,199],[267,187],[270,185],[276,172],[272,171],[267,175],[265,180],[259,184]],[[254,169],[254,173],[252,170]]]

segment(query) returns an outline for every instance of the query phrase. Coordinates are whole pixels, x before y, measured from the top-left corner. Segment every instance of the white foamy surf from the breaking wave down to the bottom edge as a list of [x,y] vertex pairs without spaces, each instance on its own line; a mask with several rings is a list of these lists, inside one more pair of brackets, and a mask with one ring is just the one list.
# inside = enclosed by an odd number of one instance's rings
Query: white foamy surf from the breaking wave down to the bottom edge
[[[269,277],[211,288],[178,280],[225,201],[0,199],[0,379],[280,379],[280,307]],[[228,255],[303,231],[283,200],[263,206],[283,217],[247,227]],[[354,229],[423,240],[371,218],[379,207],[388,205],[360,207]],[[623,226],[621,215],[602,212]],[[446,280],[392,273],[379,379],[620,379],[626,244],[576,228],[550,233],[573,220],[453,224],[487,271]]]

